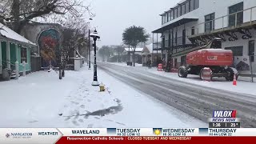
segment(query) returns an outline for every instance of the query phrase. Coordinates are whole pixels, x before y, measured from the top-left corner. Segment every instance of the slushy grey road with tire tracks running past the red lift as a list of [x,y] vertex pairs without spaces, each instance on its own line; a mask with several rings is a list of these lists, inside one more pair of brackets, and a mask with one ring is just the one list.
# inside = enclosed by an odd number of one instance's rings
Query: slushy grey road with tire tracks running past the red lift
[[143,70],[146,68],[117,66],[105,62],[100,63],[99,67],[136,90],[201,119],[203,122],[212,117],[213,110],[238,110],[238,118],[242,118],[243,127],[256,126],[254,93],[240,94],[210,86],[200,86],[197,85],[197,81],[183,82],[183,79]]

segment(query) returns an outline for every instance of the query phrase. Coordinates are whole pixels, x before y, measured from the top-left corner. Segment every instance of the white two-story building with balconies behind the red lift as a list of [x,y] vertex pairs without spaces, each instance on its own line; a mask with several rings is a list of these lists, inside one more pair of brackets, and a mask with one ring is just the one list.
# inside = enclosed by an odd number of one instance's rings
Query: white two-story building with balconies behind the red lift
[[256,1],[182,0],[161,16],[162,26],[153,31],[154,50],[173,68],[186,64],[186,54],[222,38],[222,49],[234,53],[234,66],[242,70],[241,63],[252,62],[256,72]]

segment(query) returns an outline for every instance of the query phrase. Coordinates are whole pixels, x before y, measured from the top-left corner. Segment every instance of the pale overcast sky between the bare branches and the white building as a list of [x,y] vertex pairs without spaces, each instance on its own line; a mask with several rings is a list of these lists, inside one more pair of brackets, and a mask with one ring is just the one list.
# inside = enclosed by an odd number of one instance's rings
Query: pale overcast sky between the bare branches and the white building
[[100,45],[120,45],[122,32],[129,26],[142,26],[147,33],[161,26],[164,11],[180,0],[90,0],[96,14],[91,26],[97,26]]

